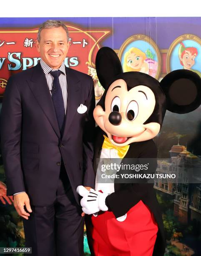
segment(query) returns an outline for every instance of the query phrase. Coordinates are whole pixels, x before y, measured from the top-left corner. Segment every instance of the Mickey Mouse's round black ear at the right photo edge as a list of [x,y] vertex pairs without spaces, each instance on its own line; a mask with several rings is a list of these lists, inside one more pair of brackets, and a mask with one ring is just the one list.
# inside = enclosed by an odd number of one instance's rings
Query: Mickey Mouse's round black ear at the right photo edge
[[166,95],[167,110],[185,114],[201,104],[201,78],[195,72],[178,69],[167,74],[160,82]]

